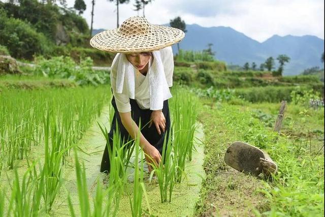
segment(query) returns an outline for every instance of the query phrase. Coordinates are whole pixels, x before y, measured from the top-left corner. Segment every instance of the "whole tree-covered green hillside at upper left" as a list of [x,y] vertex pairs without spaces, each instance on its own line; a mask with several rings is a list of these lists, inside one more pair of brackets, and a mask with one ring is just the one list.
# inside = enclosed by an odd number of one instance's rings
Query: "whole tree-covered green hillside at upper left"
[[69,48],[55,46],[57,33],[65,35],[63,44],[68,47],[89,47],[88,24],[71,8],[37,0],[20,0],[19,5],[0,2],[0,20],[0,43],[13,57],[69,55]]

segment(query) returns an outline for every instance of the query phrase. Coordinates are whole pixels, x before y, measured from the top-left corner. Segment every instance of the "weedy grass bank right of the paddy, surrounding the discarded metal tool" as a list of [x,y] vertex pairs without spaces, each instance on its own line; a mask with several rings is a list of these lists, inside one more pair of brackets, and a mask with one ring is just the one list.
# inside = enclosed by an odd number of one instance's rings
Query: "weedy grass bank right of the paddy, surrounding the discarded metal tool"
[[[197,206],[197,215],[320,216],[324,212],[323,143],[316,137],[297,138],[286,133],[275,140],[277,134],[272,127],[266,126],[251,112],[258,108],[263,112],[272,110],[274,114],[279,106],[271,103],[217,103],[212,108],[201,107],[199,116],[206,133],[204,167],[207,179],[201,191],[202,201]],[[293,119],[299,123],[293,127],[295,132],[303,130],[303,122],[305,132],[322,125],[322,120],[316,120],[316,116],[321,116],[320,111],[319,114],[315,113],[315,117],[297,114],[297,110],[305,109],[287,105],[284,116],[291,116],[294,112],[296,115]],[[288,127],[286,121],[284,129]],[[305,148],[307,139],[308,148]],[[236,173],[225,165],[223,154],[229,144],[236,140],[262,147],[270,154],[278,165],[278,173],[273,176],[273,181]],[[309,144],[314,148],[309,150]]]

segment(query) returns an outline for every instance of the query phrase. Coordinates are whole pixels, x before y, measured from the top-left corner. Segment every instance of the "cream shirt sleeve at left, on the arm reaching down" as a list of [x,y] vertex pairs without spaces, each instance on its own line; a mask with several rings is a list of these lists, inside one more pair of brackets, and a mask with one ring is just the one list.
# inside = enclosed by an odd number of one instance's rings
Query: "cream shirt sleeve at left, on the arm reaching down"
[[118,112],[129,112],[131,111],[131,104],[130,104],[130,99],[126,94],[119,94],[116,92],[116,73],[117,69],[116,67],[111,68],[111,87],[113,90],[113,95],[115,98],[115,103]]

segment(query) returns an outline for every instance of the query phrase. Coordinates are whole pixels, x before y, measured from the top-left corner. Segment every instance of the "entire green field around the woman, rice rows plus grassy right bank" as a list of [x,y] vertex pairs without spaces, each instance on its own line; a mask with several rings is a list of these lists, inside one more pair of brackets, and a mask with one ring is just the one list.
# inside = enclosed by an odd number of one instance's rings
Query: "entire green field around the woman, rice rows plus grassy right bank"
[[[117,131],[108,176],[99,171],[113,117],[108,84],[0,79],[0,216],[323,216],[323,107],[293,95],[278,134],[279,102],[175,84],[165,164],[149,173],[139,139],[126,149]],[[230,168],[223,156],[234,141],[266,150],[278,173]]]

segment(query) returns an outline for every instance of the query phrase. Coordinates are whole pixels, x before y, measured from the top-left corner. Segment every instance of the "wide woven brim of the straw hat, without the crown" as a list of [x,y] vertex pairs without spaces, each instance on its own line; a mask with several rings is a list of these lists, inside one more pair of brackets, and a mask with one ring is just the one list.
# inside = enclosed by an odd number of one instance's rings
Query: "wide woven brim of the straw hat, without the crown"
[[151,31],[146,35],[125,36],[120,35],[117,28],[105,30],[93,36],[90,45],[108,52],[148,52],[173,45],[184,36],[185,33],[178,28],[151,24]]

